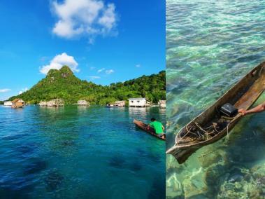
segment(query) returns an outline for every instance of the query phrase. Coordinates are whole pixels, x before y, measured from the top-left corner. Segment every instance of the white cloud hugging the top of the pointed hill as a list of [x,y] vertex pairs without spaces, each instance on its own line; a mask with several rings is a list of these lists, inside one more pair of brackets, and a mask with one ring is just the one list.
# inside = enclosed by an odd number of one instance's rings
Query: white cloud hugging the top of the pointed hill
[[50,69],[61,69],[64,65],[70,67],[72,71],[80,71],[78,69],[78,62],[74,59],[73,56],[69,56],[66,53],[61,55],[56,55],[51,61],[50,64],[41,67],[40,71],[42,74],[48,74]]

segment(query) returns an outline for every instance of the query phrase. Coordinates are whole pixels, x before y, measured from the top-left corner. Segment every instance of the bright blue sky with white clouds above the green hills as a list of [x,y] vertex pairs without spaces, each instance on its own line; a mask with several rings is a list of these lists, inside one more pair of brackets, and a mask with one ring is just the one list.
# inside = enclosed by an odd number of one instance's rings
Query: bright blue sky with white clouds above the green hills
[[165,69],[161,0],[3,0],[0,15],[0,100],[66,63],[103,85]]

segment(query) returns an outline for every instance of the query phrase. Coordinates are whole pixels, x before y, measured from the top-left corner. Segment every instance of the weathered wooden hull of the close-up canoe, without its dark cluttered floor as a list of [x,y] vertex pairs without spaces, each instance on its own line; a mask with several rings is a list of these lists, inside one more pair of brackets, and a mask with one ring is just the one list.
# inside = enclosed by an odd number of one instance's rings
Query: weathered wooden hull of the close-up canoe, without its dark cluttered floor
[[231,121],[229,121],[227,128],[218,132],[217,135],[210,137],[210,139],[180,143],[180,139],[183,139],[181,136],[185,135],[187,129],[194,125],[194,123],[206,126],[216,120],[218,118],[217,110],[219,110],[225,103],[233,104],[237,109],[249,109],[262,94],[264,88],[265,62],[262,62],[262,64],[259,64],[255,69],[252,69],[247,75],[241,78],[241,80],[220,97],[215,104],[185,125],[176,136],[176,144],[166,151],[166,153],[172,154],[178,160],[178,163],[181,164],[184,163],[196,150],[222,139],[222,137],[226,136],[229,131],[234,128],[236,123],[240,121],[242,118],[241,114],[237,114]]

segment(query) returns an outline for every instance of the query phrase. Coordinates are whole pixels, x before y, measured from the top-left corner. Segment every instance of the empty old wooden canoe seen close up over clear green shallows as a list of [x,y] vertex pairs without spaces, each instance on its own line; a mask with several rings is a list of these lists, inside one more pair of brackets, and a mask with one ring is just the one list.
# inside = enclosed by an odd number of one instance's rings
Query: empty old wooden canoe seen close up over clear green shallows
[[166,153],[173,155],[178,163],[182,164],[196,150],[228,135],[242,115],[238,113],[229,118],[222,116],[220,107],[229,103],[236,109],[249,109],[264,91],[264,68],[265,62],[262,62],[241,78],[215,104],[185,125],[176,135],[175,145]]

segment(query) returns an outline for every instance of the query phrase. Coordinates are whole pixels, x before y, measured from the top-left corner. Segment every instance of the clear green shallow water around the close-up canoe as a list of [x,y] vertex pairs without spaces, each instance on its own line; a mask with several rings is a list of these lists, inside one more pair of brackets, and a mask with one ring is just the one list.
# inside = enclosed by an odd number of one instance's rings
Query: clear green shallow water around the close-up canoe
[[[265,1],[166,1],[166,148],[264,60]],[[245,116],[182,165],[166,155],[167,198],[265,198],[264,121]]]

